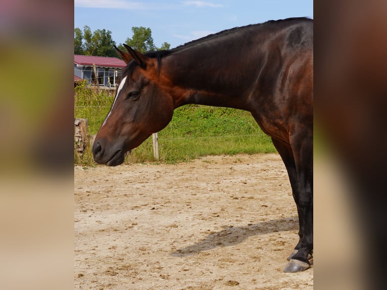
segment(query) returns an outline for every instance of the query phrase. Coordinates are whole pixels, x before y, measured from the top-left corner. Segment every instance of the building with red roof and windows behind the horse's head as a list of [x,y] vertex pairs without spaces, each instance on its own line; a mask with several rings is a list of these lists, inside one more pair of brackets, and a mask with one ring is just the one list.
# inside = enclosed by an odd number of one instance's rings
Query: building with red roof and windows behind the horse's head
[[115,87],[125,66],[126,63],[118,58],[74,55],[74,83],[80,78],[90,85],[96,85],[98,81],[100,86]]

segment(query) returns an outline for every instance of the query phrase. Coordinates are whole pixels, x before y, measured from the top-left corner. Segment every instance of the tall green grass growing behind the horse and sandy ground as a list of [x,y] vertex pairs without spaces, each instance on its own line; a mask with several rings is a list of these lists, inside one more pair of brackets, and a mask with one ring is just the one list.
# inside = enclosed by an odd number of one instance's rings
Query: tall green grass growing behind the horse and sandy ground
[[[114,93],[75,88],[75,117],[88,119],[88,132],[96,134],[110,110]],[[206,155],[273,153],[271,139],[246,111],[187,105],[174,111],[172,121],[159,132],[160,162],[177,163]],[[125,163],[154,162],[152,137],[125,158]],[[93,165],[90,148],[75,164]]]

